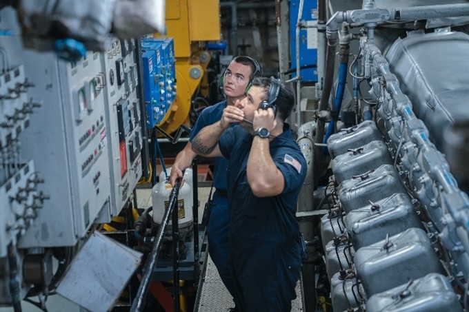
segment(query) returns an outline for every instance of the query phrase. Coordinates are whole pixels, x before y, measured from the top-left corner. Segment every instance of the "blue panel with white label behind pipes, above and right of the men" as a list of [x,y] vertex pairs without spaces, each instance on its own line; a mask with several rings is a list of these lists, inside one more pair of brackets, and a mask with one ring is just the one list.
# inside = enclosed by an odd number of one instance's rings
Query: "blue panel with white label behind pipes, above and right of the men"
[[[299,14],[299,0],[290,1],[290,67],[295,69],[292,76],[296,76],[297,68],[297,21]],[[303,82],[317,81],[317,1],[304,1],[301,21],[306,28],[299,30],[299,65]]]

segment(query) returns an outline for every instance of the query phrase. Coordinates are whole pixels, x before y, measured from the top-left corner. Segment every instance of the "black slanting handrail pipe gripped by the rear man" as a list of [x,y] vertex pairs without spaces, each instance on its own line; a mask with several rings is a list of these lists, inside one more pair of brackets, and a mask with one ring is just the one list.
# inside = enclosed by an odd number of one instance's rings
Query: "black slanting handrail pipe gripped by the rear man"
[[161,226],[158,229],[157,239],[154,240],[152,252],[148,257],[148,261],[146,262],[145,267],[143,267],[145,275],[143,275],[143,278],[141,279],[137,295],[135,296],[135,300],[134,302],[132,302],[132,306],[130,307],[130,311],[132,312],[143,311],[143,308],[145,307],[145,298],[148,293],[148,284],[150,284],[150,278],[152,276],[153,269],[157,264],[159,250],[161,249],[161,245],[163,245],[164,234],[166,232],[166,228],[168,227],[168,222],[172,214],[172,210],[174,209],[174,207],[177,206],[179,187],[181,187],[181,178],[176,180],[174,188],[171,191],[168,209],[166,209],[166,211],[164,212],[163,220],[161,221]]

